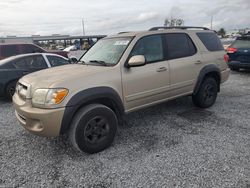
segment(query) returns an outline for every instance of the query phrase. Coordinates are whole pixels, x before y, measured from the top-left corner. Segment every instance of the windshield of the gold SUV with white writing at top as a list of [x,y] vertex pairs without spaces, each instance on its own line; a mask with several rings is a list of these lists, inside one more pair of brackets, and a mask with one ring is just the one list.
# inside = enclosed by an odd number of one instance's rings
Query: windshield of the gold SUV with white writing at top
[[102,39],[90,48],[80,61],[86,64],[116,65],[131,40],[131,37]]

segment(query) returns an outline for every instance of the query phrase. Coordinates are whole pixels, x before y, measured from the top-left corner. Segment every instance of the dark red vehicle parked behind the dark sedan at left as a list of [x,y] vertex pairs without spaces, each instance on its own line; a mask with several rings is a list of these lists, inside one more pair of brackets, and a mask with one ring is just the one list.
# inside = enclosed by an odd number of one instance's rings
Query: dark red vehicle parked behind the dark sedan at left
[[45,50],[40,46],[35,44],[0,44],[0,60],[19,55],[19,54],[28,54],[28,53],[53,53],[64,56],[68,58],[68,53],[61,50]]

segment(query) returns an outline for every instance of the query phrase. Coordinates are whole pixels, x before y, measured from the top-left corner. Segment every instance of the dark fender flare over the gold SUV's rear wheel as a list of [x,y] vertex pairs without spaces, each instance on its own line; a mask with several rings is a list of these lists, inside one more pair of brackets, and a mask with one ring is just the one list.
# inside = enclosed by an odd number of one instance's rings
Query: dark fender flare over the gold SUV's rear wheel
[[220,69],[216,65],[210,64],[210,65],[207,65],[201,69],[200,74],[199,74],[198,79],[197,79],[197,82],[196,82],[196,85],[195,85],[195,88],[194,88],[193,95],[195,95],[198,92],[204,78],[208,74],[211,74],[211,73],[216,74],[218,76],[218,78],[219,78],[219,80],[218,80],[218,86],[219,86],[218,92],[220,91],[220,81],[221,81]]

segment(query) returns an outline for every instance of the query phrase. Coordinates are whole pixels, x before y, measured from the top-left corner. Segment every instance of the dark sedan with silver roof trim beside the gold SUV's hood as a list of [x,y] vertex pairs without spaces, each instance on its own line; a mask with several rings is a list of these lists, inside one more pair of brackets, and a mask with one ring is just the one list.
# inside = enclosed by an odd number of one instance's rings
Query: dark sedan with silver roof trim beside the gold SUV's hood
[[41,69],[69,64],[67,58],[50,53],[12,56],[0,61],[0,96],[11,99],[22,76]]

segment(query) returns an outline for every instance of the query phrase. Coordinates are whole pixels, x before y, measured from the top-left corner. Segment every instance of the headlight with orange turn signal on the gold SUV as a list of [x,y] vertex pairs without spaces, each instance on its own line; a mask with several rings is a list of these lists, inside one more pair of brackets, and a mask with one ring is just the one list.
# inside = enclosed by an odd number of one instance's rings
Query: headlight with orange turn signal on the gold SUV
[[37,89],[32,96],[32,104],[35,107],[52,107],[60,104],[68,94],[68,90],[60,89]]

